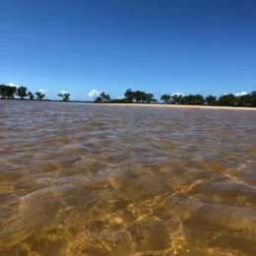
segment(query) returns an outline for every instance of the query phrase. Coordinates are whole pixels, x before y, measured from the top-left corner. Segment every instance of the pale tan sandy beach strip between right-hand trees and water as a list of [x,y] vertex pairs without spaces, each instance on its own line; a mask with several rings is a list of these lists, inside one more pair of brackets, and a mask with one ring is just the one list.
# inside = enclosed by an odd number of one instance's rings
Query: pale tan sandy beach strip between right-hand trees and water
[[96,105],[151,106],[151,107],[197,108],[197,109],[256,110],[256,107],[213,106],[213,105],[179,105],[179,104],[147,104],[147,103],[96,103]]

